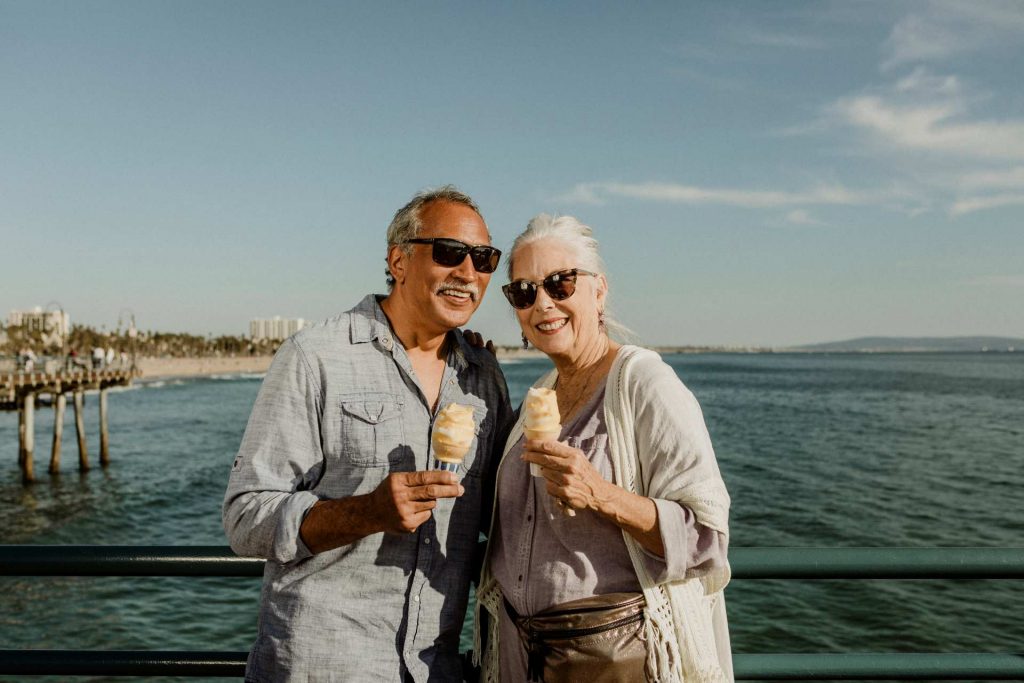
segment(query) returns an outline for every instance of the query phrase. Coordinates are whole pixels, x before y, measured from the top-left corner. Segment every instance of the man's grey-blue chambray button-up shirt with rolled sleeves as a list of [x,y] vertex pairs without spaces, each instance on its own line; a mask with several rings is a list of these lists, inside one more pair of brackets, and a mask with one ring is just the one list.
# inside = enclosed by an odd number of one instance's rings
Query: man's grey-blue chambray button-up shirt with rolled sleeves
[[415,533],[316,555],[299,538],[309,508],[429,469],[434,414],[374,295],[279,349],[224,497],[231,548],[268,560],[247,679],[461,680],[459,635],[511,409],[494,356],[450,335],[437,404],[473,408],[466,493],[437,501]]

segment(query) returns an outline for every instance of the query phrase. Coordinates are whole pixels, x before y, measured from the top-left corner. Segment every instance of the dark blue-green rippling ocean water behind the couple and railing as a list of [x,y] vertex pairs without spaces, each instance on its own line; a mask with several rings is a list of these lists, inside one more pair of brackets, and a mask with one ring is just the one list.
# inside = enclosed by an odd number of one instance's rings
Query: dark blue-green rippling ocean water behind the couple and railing
[[[734,546],[1024,542],[1024,354],[666,360],[703,409]],[[504,367],[518,402],[550,365]],[[70,411],[62,471],[46,473],[52,411],[40,410],[31,486],[16,416],[0,414],[0,543],[225,544],[220,503],[258,389],[258,377],[230,376],[112,391],[105,470],[88,396],[95,469],[84,475]],[[727,596],[736,652],[998,652],[1024,641],[1021,582],[735,581]],[[0,578],[0,648],[248,649],[258,598],[258,579]]]

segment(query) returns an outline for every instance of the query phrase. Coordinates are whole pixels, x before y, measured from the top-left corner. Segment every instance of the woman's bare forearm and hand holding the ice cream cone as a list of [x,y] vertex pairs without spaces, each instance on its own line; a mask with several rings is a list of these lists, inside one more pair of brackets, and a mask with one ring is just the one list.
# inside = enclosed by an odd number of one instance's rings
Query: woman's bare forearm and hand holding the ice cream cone
[[558,441],[527,439],[522,459],[543,468],[548,494],[560,504],[569,510],[593,510],[650,552],[665,557],[654,501],[606,480],[583,451]]

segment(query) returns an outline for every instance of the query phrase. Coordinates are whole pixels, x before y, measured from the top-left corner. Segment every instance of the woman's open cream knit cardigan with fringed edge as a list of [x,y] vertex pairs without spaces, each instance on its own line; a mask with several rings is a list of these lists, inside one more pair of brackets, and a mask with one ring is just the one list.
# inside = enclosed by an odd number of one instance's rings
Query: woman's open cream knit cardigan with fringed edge
[[[535,386],[551,388],[557,371]],[[512,428],[505,456],[522,435],[524,416]],[[608,454],[614,483],[647,496],[676,501],[696,520],[728,538],[729,494],[719,473],[700,407],[660,356],[637,346],[624,346],[608,373],[604,398]],[[499,464],[499,470],[501,464]],[[495,501],[497,507],[497,497]],[[492,515],[492,533],[494,520]],[[490,535],[488,535],[490,538]],[[647,678],[673,683],[731,682],[732,651],[722,590],[729,583],[728,563],[689,571],[681,581],[655,584],[641,546],[623,531],[633,567],[647,600],[644,638]],[[498,616],[502,593],[488,570],[489,546],[476,592],[474,660],[482,664],[481,680],[498,681]],[[487,651],[480,651],[480,609],[490,614]]]

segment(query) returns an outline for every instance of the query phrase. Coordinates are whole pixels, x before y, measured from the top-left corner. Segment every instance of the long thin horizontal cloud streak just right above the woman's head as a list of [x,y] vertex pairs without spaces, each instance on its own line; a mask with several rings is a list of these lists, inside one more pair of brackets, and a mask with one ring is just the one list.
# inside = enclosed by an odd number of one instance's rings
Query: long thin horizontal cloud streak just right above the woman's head
[[699,187],[671,182],[588,182],[577,184],[559,199],[580,203],[601,203],[611,197],[672,204],[717,204],[749,209],[791,206],[865,204],[867,198],[842,185],[820,186],[801,193],[771,189]]

